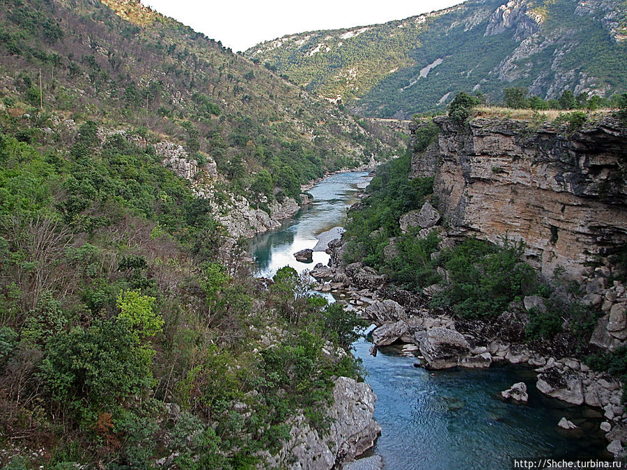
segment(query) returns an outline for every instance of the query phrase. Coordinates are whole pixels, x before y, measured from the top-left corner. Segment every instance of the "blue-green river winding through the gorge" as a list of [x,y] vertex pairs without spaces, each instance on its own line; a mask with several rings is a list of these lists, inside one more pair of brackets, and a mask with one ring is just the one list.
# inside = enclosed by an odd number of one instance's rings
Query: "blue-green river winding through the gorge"
[[[293,253],[314,248],[316,235],[341,226],[346,209],[367,184],[368,173],[340,173],[309,192],[314,203],[280,228],[255,237],[250,253],[258,276],[272,276],[290,265],[299,272],[329,256],[314,252],[314,263],[300,263]],[[353,345],[366,369],[366,382],[377,394],[375,418],[382,433],[369,453],[382,455],[388,469],[504,469],[511,457],[598,458],[605,446],[598,432],[601,414],[587,407],[564,408],[535,388],[534,373],[513,366],[485,370],[427,371],[414,367],[398,347],[369,354],[365,339]],[[500,391],[524,381],[528,405],[499,399]],[[585,430],[574,439],[559,433],[562,416]]]

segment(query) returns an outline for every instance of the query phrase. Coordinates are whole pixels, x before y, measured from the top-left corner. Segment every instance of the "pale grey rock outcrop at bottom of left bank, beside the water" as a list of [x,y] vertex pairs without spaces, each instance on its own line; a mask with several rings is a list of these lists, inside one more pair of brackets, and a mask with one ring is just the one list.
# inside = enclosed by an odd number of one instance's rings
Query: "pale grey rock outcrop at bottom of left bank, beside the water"
[[304,416],[290,423],[290,440],[277,455],[267,455],[270,468],[328,470],[353,460],[371,448],[381,432],[374,421],[376,395],[364,382],[338,377],[333,404],[327,409],[332,420],[326,435],[312,429]]

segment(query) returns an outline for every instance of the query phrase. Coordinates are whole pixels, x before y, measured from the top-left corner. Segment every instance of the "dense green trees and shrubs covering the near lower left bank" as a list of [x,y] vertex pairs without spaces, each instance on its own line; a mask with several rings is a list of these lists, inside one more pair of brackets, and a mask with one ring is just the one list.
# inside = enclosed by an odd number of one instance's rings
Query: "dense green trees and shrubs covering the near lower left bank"
[[184,180],[92,126],[68,155],[0,135],[5,468],[248,468],[298,410],[324,432],[359,369],[322,346],[359,320],[291,268],[251,278]]

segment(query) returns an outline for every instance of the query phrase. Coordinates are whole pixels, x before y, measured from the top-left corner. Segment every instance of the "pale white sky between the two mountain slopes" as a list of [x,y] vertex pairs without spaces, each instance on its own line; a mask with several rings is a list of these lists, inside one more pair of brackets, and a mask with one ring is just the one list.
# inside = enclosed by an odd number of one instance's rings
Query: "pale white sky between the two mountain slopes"
[[286,34],[385,23],[441,10],[460,0],[144,0],[233,52]]

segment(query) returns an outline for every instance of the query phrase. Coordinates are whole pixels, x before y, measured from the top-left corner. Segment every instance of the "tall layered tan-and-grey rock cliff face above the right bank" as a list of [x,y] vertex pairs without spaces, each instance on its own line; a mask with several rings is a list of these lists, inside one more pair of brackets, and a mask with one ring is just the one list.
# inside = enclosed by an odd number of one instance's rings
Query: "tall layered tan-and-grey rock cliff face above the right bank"
[[572,133],[502,118],[435,123],[438,140],[414,155],[412,175],[435,177],[435,201],[454,232],[522,240],[543,274],[563,267],[574,278],[591,264],[609,267],[627,244],[627,128],[617,120]]

